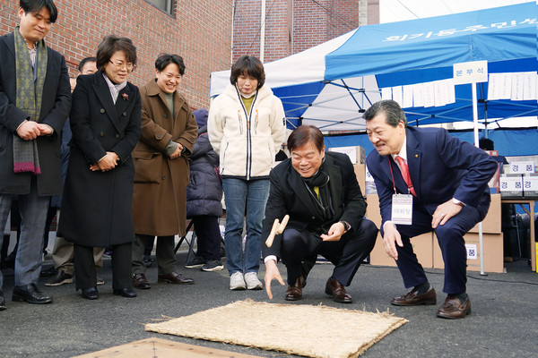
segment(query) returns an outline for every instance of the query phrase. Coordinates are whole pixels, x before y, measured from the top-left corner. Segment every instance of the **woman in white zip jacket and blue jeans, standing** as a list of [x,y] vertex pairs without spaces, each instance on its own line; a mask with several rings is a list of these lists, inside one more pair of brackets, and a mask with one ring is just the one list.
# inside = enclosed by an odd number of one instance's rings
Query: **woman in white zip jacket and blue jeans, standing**
[[[231,67],[230,85],[213,100],[209,110],[209,141],[221,162],[231,290],[262,289],[257,272],[269,172],[286,128],[282,102],[264,82],[264,65],[253,56],[239,57]],[[245,216],[247,241],[243,252]]]

